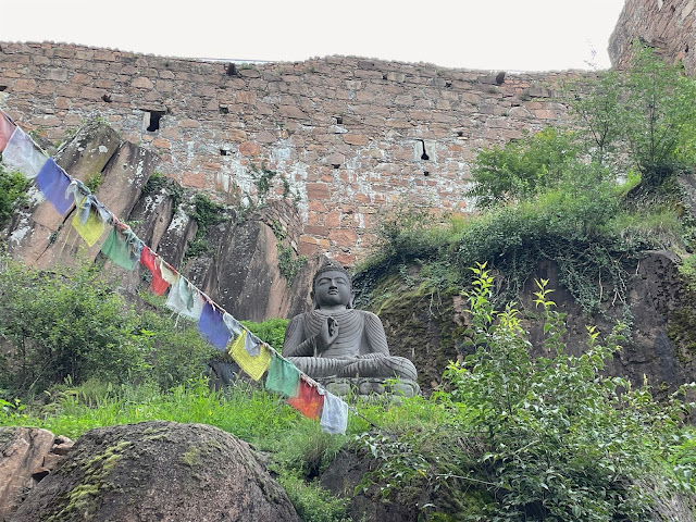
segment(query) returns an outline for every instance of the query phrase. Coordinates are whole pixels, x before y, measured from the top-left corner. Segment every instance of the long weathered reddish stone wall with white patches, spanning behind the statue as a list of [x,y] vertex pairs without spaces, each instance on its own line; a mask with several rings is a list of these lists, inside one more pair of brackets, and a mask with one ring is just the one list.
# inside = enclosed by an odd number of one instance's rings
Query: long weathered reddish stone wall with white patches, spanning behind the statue
[[[160,172],[222,201],[253,194],[250,166],[265,165],[300,195],[299,252],[326,251],[352,263],[372,239],[375,215],[405,198],[470,211],[462,194],[476,152],[564,122],[567,108],[549,86],[575,74],[346,57],[233,69],[0,42],[0,107],[52,141],[103,119],[157,151]],[[159,115],[159,129],[148,130]]]

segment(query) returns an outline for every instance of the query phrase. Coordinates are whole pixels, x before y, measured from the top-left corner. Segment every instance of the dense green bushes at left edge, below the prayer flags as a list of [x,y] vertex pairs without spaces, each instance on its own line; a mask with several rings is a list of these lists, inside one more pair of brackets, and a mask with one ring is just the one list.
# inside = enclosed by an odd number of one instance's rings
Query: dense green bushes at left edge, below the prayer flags
[[170,312],[136,311],[98,265],[29,269],[0,259],[0,389],[21,396],[70,378],[113,384],[153,381],[162,388],[199,375],[216,352],[194,323]]

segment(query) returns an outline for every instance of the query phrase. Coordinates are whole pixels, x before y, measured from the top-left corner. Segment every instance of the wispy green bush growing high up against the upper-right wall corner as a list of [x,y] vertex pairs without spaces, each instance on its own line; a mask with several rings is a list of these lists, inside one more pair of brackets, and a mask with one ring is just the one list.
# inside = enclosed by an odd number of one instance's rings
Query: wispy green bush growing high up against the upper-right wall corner
[[[642,44],[625,71],[570,83],[567,100],[593,159],[635,167],[654,190],[696,164],[696,80]],[[616,152],[627,152],[627,164]]]

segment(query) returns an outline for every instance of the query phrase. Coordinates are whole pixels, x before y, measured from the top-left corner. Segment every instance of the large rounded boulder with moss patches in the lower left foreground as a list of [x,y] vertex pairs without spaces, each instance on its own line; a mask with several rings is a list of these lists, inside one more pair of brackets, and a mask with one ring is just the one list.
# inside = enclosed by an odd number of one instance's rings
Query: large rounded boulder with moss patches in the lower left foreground
[[10,520],[300,519],[245,442],[203,424],[151,421],[87,432]]

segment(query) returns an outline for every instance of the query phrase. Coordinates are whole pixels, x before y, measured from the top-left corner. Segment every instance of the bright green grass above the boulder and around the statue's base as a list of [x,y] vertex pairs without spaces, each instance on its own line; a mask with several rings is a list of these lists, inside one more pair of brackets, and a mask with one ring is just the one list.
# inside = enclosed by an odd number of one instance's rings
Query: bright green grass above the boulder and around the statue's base
[[346,500],[333,498],[318,477],[358,434],[372,424],[401,433],[439,419],[420,397],[398,405],[369,403],[358,407],[359,415],[350,414],[346,435],[328,435],[318,421],[302,417],[260,385],[240,381],[225,391],[214,391],[204,378],[167,391],[154,383],[114,386],[91,380],[73,386],[67,381],[46,393],[45,400],[25,405],[0,399],[0,426],[42,427],[72,439],[96,427],[152,420],[216,426],[271,452],[271,470],[302,520],[310,522],[349,520]]

